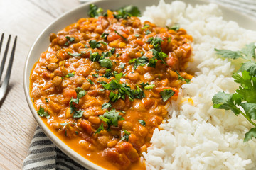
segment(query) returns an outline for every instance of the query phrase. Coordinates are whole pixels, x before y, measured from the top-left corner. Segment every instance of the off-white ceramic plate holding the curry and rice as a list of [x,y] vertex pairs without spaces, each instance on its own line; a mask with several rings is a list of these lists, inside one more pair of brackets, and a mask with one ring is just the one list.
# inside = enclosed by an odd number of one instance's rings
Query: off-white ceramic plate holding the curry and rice
[[[183,0],[187,4],[195,5],[195,4],[208,4],[206,1],[199,1],[199,0]],[[171,0],[166,0],[166,2],[171,3]],[[75,162],[78,162],[82,166],[85,166],[87,169],[102,169],[100,166],[97,166],[93,164],[92,162],[88,161],[84,157],[80,156],[80,154],[73,151],[73,149],[70,149],[67,145],[65,145],[64,142],[62,142],[58,137],[56,137],[53,132],[51,132],[47,126],[43,123],[43,120],[41,120],[40,116],[36,113],[35,108],[33,107],[33,103],[31,101],[31,98],[29,96],[29,77],[31,74],[31,70],[33,69],[33,65],[35,62],[38,61],[41,52],[45,52],[48,48],[49,42],[49,35],[50,33],[58,33],[59,30],[62,30],[66,26],[70,25],[71,23],[75,23],[78,21],[79,18],[85,18],[87,17],[87,12],[89,9],[89,4],[95,4],[97,6],[100,6],[101,8],[107,10],[107,9],[118,9],[122,6],[126,5],[134,5],[138,6],[139,9],[143,12],[145,9],[145,6],[151,6],[151,5],[157,5],[159,3],[158,0],[104,0],[104,1],[92,1],[90,3],[82,4],[81,6],[78,6],[77,8],[74,8],[73,10],[69,11],[68,13],[65,13],[63,16],[60,16],[57,18],[53,23],[50,24],[45,30],[43,30],[43,33],[38,36],[36,39],[36,42],[34,42],[33,46],[31,47],[30,52],[28,53],[28,57],[26,60],[26,65],[24,69],[24,90],[26,94],[26,100],[28,102],[28,106],[31,109],[31,112],[36,119],[38,125],[41,127],[43,132],[46,133],[46,135],[50,138],[53,143],[60,148],[65,154],[67,154],[70,158],[74,159]],[[233,20],[236,21],[241,27],[256,30],[255,23],[252,18],[242,15],[241,13],[238,13],[237,11],[232,11],[229,8],[225,8],[223,6],[220,6],[220,9],[223,11],[223,18],[225,20]]]

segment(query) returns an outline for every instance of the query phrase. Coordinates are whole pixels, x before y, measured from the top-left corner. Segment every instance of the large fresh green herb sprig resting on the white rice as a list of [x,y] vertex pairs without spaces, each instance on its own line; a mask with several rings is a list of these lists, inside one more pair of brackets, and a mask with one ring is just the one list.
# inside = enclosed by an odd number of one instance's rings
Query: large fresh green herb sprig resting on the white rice
[[[235,115],[243,115],[254,127],[245,133],[244,142],[256,138],[256,62],[255,43],[245,45],[240,51],[217,50],[216,54],[224,58],[236,60],[242,58],[247,62],[242,63],[238,72],[233,74],[234,81],[240,84],[234,94],[218,92],[212,98],[213,108],[231,110]],[[241,109],[242,108],[242,109]]]

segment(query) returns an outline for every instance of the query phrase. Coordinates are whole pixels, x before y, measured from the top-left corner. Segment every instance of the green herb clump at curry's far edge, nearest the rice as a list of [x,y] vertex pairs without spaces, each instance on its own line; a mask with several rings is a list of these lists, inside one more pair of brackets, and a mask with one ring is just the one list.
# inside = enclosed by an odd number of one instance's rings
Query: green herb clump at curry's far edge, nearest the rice
[[123,8],[119,8],[119,10],[117,10],[117,14],[114,14],[114,18],[117,18],[117,19],[120,19],[120,18],[127,19],[128,17],[131,17],[131,16],[141,16],[139,8],[132,5],[125,6]]

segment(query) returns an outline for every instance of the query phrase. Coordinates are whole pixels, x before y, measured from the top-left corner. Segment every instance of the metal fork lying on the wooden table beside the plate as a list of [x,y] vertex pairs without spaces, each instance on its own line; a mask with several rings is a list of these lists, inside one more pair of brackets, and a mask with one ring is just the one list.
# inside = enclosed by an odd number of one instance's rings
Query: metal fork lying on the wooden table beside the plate
[[[1,46],[3,45],[3,41],[4,41],[4,33],[2,33],[2,35],[1,35],[0,52],[1,52]],[[4,51],[4,57],[1,61],[0,81],[1,81],[1,76],[3,74],[3,71],[4,71],[4,64],[6,63],[6,57],[7,57],[10,41],[11,41],[11,35],[9,35],[9,38],[8,38],[8,41],[7,41],[7,44],[6,44],[6,49]],[[14,52],[15,52],[15,47],[16,47],[16,41],[17,41],[17,36],[15,36],[15,39],[14,39],[14,45],[13,45],[13,48],[11,50],[11,57],[9,59],[8,67],[7,67],[7,70],[6,70],[6,76],[4,77],[4,81],[3,81],[3,83],[1,84],[1,87],[0,87],[0,103],[4,99],[4,96],[6,94],[7,87],[8,87],[8,84],[9,84],[9,80],[10,80],[10,76],[11,76],[11,67],[12,67],[12,64],[14,62]]]

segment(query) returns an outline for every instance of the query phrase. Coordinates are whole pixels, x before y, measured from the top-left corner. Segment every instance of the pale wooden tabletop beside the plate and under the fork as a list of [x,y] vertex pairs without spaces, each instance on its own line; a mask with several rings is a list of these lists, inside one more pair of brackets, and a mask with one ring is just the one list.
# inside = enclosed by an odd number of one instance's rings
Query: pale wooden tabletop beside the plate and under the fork
[[18,35],[10,87],[0,106],[0,169],[22,168],[37,125],[23,91],[28,51],[48,24],[79,4],[78,0],[0,0],[0,34],[5,33],[1,57],[8,35]]

